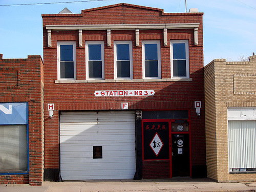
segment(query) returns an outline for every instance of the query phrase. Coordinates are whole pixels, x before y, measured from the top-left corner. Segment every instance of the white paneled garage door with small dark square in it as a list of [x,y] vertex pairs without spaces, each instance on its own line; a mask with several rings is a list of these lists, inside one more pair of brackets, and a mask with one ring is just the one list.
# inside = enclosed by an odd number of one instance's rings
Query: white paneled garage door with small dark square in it
[[[62,112],[62,179],[132,179],[135,174],[134,116],[130,111]],[[93,158],[93,146],[102,146],[102,158]]]

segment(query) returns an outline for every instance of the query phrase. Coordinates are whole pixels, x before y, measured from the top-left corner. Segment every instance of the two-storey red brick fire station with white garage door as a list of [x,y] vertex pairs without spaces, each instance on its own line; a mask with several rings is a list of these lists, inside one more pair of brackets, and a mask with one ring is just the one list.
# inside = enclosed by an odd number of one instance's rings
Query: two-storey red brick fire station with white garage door
[[46,180],[205,175],[202,16],[42,15]]

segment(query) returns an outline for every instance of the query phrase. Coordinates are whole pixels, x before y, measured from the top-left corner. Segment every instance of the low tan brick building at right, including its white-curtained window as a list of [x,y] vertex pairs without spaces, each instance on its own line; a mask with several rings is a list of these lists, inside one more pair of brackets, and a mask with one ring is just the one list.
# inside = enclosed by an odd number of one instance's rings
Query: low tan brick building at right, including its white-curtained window
[[256,56],[204,67],[207,177],[256,180]]

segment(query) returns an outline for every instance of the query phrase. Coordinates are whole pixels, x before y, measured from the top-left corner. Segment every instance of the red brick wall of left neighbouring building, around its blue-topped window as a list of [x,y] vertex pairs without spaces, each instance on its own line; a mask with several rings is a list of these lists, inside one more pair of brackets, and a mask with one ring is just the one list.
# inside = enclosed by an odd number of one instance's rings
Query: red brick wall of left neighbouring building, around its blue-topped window
[[3,59],[0,54],[0,104],[28,103],[29,173],[0,174],[0,184],[41,185],[44,161],[44,79],[39,55]]

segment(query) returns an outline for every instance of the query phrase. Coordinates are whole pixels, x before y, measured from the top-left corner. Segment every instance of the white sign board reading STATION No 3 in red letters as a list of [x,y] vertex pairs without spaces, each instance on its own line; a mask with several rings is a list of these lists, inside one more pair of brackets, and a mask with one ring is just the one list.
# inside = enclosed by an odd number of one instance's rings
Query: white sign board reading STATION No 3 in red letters
[[95,91],[96,97],[113,97],[113,96],[153,96],[154,90],[107,90]]

